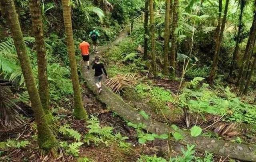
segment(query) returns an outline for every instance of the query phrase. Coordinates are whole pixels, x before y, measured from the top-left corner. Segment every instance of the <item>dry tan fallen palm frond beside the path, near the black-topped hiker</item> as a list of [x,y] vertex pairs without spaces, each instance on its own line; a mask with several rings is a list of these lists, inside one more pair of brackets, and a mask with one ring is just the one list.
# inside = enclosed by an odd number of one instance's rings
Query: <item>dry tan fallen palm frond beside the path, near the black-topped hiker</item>
[[140,76],[136,73],[134,74],[118,74],[116,77],[110,78],[105,81],[106,86],[108,86],[114,93],[119,93],[119,91],[127,86],[134,85],[138,83],[138,78]]

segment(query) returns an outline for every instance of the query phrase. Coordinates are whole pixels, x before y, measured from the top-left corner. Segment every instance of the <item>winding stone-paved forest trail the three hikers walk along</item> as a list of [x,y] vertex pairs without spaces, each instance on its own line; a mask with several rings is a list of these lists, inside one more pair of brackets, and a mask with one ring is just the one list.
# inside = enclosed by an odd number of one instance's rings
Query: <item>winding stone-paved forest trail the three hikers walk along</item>
[[[128,34],[128,30],[124,30],[121,32],[120,36],[112,42],[110,45],[105,45],[100,47],[100,53],[106,51],[108,48],[113,45],[117,45],[120,41],[122,41],[126,35]],[[100,55],[100,53],[98,55]],[[90,55],[90,61],[94,60],[94,54]],[[168,133],[168,125],[162,122],[158,122],[154,119],[144,120],[142,116],[139,115],[138,111],[131,107],[128,103],[125,103],[122,98],[115,93],[113,93],[110,89],[108,89],[105,85],[102,85],[102,92],[100,95],[97,94],[98,89],[94,85],[94,71],[87,70],[85,64],[81,62],[82,67],[82,77],[85,80],[87,87],[97,95],[97,98],[105,103],[112,111],[116,112],[120,117],[133,122],[140,123],[144,122],[146,124],[149,132],[164,134]],[[186,144],[194,144],[196,145],[196,149],[199,151],[208,151],[214,154],[218,154],[220,156],[228,156],[230,158],[239,159],[243,161],[252,161],[256,162],[256,146],[249,144],[237,144],[224,140],[216,140],[212,138],[208,138],[205,136],[198,136],[196,138],[191,137],[189,132],[184,132],[184,140],[179,141],[178,143],[185,145]]]

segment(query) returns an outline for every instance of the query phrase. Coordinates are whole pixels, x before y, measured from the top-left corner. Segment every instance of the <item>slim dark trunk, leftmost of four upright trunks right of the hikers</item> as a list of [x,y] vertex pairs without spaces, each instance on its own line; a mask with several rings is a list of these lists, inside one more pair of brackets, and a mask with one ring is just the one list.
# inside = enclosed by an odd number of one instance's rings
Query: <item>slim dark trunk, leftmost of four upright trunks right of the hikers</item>
[[148,0],[145,0],[145,17],[144,17],[144,55],[148,59]]

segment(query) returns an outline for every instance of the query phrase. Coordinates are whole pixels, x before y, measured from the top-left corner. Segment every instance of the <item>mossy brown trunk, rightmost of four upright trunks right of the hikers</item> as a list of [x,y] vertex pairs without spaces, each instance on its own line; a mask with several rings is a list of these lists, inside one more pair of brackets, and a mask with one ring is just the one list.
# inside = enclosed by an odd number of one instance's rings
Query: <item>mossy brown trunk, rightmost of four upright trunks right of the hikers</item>
[[172,46],[170,49],[170,72],[172,77],[175,77],[176,70],[176,34],[174,33],[176,28],[178,27],[178,7],[179,1],[174,0],[173,2],[173,13],[172,13]]

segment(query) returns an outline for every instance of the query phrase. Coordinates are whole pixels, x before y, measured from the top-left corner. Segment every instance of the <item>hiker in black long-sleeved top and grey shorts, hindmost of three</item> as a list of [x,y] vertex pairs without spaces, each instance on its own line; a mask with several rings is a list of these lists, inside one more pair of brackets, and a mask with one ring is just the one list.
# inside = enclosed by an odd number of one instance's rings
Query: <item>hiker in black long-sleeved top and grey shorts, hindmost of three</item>
[[99,89],[98,93],[100,93],[102,91],[102,88],[101,88],[101,81],[102,81],[102,74],[103,74],[102,69],[106,77],[108,78],[108,74],[106,72],[106,69],[104,68],[103,63],[100,63],[100,57],[98,56],[95,57],[95,63],[93,64],[92,69],[95,69],[94,81],[95,81],[95,85]]

